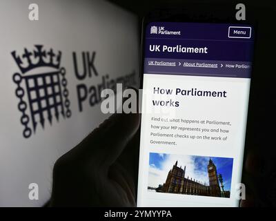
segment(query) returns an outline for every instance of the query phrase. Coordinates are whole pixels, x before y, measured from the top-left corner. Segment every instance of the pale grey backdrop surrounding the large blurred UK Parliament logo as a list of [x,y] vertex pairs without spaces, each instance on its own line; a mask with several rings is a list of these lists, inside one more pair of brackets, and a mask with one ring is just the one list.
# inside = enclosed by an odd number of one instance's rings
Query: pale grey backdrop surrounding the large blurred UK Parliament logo
[[[28,19],[28,6],[37,3],[39,21]],[[17,0],[0,1],[0,206],[41,206],[50,198],[52,166],[55,160],[74,147],[106,118],[100,106],[86,104],[79,113],[72,51],[81,59],[82,51],[96,51],[95,66],[99,77],[83,82],[88,86],[110,78],[138,73],[137,19],[129,12],[106,1]],[[72,116],[59,123],[40,126],[35,135],[22,136],[19,99],[12,75],[19,68],[10,52],[34,49],[62,51],[61,66],[66,68]],[[79,61],[79,64],[81,62]],[[28,199],[28,185],[39,184],[39,200]]]

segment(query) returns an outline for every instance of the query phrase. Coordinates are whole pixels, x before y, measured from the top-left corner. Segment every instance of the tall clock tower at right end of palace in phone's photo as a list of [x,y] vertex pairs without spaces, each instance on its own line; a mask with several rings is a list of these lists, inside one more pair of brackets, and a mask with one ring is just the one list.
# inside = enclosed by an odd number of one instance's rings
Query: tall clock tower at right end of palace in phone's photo
[[210,185],[210,195],[220,197],[221,191],[219,187],[219,180],[217,178],[217,167],[215,166],[211,158],[209,160],[207,169],[208,169],[208,177],[209,177],[209,185]]

